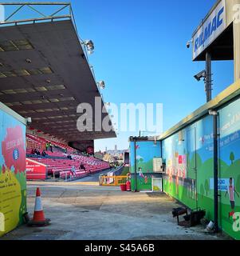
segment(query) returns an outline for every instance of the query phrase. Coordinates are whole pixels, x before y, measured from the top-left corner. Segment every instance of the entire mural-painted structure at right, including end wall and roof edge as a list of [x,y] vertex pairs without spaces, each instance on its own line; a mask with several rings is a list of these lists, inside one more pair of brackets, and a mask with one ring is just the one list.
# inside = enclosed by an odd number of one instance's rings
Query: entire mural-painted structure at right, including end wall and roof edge
[[[162,175],[166,194],[191,210],[206,210],[207,219],[214,220],[214,117],[209,110],[218,112],[218,225],[240,240],[240,80],[167,130],[157,143],[130,138],[132,190],[135,180],[137,191],[151,190],[151,178]],[[163,158],[165,174],[152,172],[155,157]]]

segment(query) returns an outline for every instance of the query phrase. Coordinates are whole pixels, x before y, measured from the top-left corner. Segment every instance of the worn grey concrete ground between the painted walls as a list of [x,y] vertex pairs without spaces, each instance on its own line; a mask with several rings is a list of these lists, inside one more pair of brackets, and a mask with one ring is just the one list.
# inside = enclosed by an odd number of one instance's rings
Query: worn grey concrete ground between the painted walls
[[171,210],[179,205],[165,194],[121,192],[100,187],[98,174],[81,182],[29,182],[28,210],[41,188],[45,217],[51,225],[21,226],[2,240],[216,240],[203,226],[177,226]]

